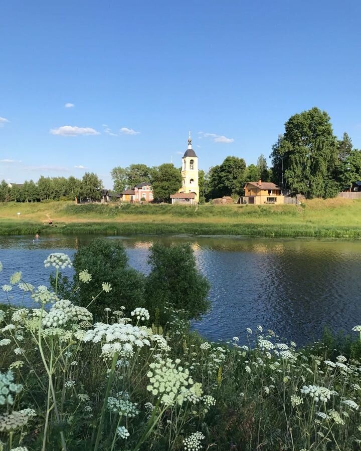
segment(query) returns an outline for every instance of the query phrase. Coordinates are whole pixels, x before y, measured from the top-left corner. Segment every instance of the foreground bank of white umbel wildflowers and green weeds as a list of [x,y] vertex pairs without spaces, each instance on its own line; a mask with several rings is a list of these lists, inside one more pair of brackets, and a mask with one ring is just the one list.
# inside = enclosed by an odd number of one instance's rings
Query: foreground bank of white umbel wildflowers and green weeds
[[[360,448],[359,346],[351,357],[322,343],[297,350],[261,326],[247,329],[247,345],[207,342],[167,306],[166,333],[144,307],[129,317],[105,307],[94,323],[58,296],[71,264],[63,254],[45,261],[55,291],[20,272],[2,286],[10,304],[38,304],[0,311],[2,451]],[[79,274],[79,285],[94,280]],[[105,293],[106,281],[90,306]]]

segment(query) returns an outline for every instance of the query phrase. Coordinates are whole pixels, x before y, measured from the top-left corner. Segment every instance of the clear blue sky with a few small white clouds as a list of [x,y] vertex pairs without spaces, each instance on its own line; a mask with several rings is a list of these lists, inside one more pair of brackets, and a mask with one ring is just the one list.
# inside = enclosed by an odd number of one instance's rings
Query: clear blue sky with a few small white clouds
[[7,0],[1,16],[0,179],[111,187],[117,165],[180,166],[188,130],[201,168],[250,164],[313,106],[361,148],[358,1]]

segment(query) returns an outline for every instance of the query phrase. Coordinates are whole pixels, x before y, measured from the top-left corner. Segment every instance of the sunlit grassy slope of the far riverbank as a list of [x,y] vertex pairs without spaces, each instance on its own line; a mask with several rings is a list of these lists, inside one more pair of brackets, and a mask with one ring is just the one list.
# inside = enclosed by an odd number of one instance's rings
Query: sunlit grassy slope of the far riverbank
[[[20,212],[20,217],[18,217]],[[51,218],[57,227],[49,227]],[[361,200],[303,205],[0,203],[0,235],[196,234],[361,238]]]

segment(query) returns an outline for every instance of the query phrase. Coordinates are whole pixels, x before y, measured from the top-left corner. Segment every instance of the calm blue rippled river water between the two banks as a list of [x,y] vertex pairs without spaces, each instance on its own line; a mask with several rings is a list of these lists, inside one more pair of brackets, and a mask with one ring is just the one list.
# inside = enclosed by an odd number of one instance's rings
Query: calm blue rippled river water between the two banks
[[[43,261],[51,252],[70,256],[93,237],[0,237],[0,285],[14,271],[34,285],[48,284]],[[130,265],[147,273],[153,241],[192,243],[200,271],[212,284],[212,311],[194,324],[209,339],[245,338],[261,324],[298,344],[319,338],[324,326],[349,331],[361,324],[361,241],[232,237],[110,237],[126,247]],[[70,270],[68,274],[71,273]],[[13,290],[13,302],[20,291]],[[6,302],[0,292],[0,302]]]

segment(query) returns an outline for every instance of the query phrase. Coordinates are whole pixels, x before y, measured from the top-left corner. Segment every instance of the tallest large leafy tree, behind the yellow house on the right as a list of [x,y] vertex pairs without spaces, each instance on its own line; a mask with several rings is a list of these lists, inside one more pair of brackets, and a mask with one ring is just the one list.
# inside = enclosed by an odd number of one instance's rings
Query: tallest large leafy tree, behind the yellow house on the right
[[[337,140],[330,117],[319,108],[295,114],[272,148],[275,182],[307,197],[326,197],[337,165]],[[327,191],[327,192],[326,192]]]

